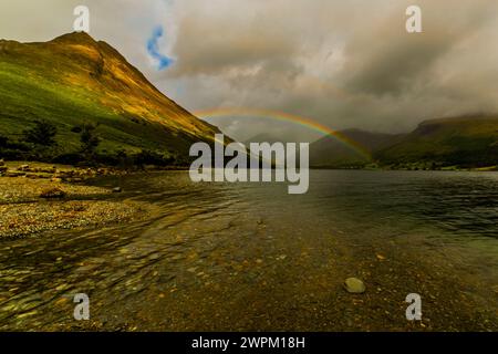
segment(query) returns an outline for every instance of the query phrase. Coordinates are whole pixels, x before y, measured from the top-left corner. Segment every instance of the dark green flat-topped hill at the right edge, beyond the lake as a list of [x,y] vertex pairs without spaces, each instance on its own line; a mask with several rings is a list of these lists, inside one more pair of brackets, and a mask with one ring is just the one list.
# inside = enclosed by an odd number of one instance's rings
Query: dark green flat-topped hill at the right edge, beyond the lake
[[375,152],[374,157],[384,165],[496,166],[498,116],[425,121],[400,142]]

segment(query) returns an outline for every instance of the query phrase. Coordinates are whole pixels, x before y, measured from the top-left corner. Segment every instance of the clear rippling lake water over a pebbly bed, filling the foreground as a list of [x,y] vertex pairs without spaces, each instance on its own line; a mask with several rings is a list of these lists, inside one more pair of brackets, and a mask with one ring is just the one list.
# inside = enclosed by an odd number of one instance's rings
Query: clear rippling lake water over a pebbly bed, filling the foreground
[[153,211],[1,241],[0,329],[498,330],[497,173],[312,170],[305,195],[185,171],[93,183]]

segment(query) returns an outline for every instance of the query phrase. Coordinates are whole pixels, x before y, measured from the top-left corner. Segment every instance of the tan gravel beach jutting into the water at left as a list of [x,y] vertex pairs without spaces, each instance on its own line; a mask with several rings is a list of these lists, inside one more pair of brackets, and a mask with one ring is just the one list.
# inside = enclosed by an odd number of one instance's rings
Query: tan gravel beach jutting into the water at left
[[[51,192],[62,197],[42,197]],[[0,177],[0,238],[102,226],[137,219],[145,214],[145,207],[137,202],[106,200],[111,194],[106,188],[45,176]]]

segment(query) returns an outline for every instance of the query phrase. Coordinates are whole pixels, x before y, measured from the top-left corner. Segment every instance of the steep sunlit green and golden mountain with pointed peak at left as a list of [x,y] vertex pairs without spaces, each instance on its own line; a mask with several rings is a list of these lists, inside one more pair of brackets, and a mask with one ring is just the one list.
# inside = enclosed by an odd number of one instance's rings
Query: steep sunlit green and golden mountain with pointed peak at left
[[100,152],[151,149],[188,156],[218,128],[166,97],[110,44],[70,33],[43,43],[0,41],[0,135],[20,139],[35,121],[58,128],[62,153],[96,125]]

